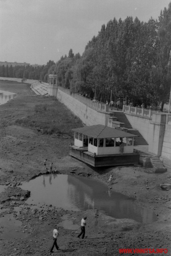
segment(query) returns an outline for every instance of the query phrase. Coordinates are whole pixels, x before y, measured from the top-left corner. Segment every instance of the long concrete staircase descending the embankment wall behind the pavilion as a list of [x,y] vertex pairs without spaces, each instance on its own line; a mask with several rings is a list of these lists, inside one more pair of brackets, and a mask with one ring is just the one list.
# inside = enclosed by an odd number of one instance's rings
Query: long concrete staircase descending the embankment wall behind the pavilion
[[113,116],[117,118],[118,122],[124,123],[124,127],[128,128],[128,132],[131,134],[136,135],[137,137],[134,137],[134,146],[138,145],[148,145],[146,140],[143,138],[143,136],[140,134],[140,132],[136,129],[133,129],[131,124],[128,121],[128,118],[123,112],[114,112]]

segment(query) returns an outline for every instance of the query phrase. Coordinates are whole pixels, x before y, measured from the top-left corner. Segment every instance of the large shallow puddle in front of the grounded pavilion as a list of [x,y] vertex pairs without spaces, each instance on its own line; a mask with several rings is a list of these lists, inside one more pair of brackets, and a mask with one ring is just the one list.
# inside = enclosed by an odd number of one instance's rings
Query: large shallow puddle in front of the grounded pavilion
[[52,205],[65,210],[104,210],[109,216],[133,219],[142,223],[157,220],[153,210],[137,206],[127,196],[111,191],[106,184],[93,178],[64,174],[48,174],[23,183],[30,190],[28,204]]

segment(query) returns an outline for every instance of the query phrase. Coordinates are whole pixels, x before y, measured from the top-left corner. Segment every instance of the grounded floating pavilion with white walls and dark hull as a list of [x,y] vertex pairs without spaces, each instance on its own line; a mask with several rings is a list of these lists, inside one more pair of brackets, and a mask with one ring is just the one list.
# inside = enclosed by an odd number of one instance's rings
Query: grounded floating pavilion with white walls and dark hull
[[104,125],[72,129],[74,145],[70,155],[94,167],[137,164],[133,151],[136,135]]

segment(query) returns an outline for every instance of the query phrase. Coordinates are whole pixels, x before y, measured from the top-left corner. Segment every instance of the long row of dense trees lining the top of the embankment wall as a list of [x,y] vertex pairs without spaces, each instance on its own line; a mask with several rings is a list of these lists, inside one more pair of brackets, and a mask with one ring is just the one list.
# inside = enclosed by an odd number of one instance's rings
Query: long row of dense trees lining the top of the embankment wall
[[86,45],[82,56],[69,50],[54,63],[32,67],[1,68],[0,75],[41,79],[57,74],[57,84],[71,92],[88,94],[105,102],[120,98],[134,106],[161,107],[169,98],[171,85],[171,3],[158,20],[140,22],[127,17],[102,25],[98,35]]

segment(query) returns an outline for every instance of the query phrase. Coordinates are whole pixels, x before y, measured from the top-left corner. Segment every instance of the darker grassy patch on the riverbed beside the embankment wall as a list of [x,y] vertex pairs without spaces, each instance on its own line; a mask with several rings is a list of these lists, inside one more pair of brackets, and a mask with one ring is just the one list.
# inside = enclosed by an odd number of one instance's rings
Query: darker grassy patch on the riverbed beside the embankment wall
[[56,100],[50,104],[36,105],[33,113],[29,113],[25,118],[17,119],[16,123],[41,129],[43,134],[66,134],[71,137],[73,136],[71,129],[83,126],[78,117]]

